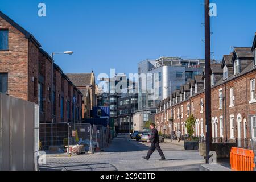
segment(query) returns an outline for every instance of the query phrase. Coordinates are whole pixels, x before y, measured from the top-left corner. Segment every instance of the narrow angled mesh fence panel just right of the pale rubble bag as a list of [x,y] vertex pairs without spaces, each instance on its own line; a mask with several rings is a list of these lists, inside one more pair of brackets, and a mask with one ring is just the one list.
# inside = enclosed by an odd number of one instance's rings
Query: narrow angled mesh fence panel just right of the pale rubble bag
[[90,151],[104,151],[105,149],[105,132],[104,126],[93,125],[92,137],[90,141]]

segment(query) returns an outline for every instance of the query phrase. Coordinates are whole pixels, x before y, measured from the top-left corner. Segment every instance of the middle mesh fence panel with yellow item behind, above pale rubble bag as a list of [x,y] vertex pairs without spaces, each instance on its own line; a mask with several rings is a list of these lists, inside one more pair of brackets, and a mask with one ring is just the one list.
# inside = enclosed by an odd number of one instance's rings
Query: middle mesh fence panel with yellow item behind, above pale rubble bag
[[91,134],[90,124],[69,123],[69,145],[82,145],[83,152],[89,151]]

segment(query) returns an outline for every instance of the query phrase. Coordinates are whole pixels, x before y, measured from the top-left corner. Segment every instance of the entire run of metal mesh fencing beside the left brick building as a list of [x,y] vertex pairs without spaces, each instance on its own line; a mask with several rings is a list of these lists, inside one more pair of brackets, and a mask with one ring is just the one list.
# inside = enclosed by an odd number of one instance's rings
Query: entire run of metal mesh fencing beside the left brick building
[[104,151],[111,141],[110,128],[84,123],[40,123],[39,150],[81,154]]

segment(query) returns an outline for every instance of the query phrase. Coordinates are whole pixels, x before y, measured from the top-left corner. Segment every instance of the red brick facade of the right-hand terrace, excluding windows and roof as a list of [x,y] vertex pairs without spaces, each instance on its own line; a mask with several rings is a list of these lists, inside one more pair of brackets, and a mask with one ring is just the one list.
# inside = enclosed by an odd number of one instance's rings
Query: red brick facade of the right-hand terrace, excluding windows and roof
[[[225,82],[222,85],[214,86],[212,88],[212,128],[215,134],[217,129],[217,135],[213,137],[220,137],[220,118],[223,118],[223,137],[230,140],[230,115],[234,115],[234,138],[238,137],[238,117],[241,119],[241,138],[244,137],[244,125],[243,121],[246,121],[246,138],[250,138],[250,115],[256,115],[256,103],[249,104],[250,101],[250,80],[256,79],[256,71],[254,70],[251,73],[247,73],[244,76],[237,77],[234,80]],[[230,107],[230,88],[234,88],[234,106]],[[220,89],[222,89],[223,95],[223,106],[220,107],[219,98],[220,98]],[[203,98],[203,113],[201,113],[201,98]],[[199,121],[199,135],[201,134],[201,129],[203,129],[204,136],[206,134],[206,122],[205,122],[205,93],[201,92],[192,97],[189,97],[187,100],[175,104],[172,106],[172,110],[175,110],[174,117],[174,126],[177,123],[184,123],[187,119],[187,104],[189,103],[189,113],[194,114],[195,118]],[[193,104],[192,104],[193,103]],[[194,105],[194,113],[192,109]],[[178,118],[177,113],[180,108],[181,115],[181,106],[183,106],[183,118]],[[162,125],[164,123],[161,120],[163,111],[156,113],[155,118],[158,119],[158,129],[162,130]],[[201,119],[203,119],[203,127],[201,126]],[[216,126],[215,126],[216,125]],[[174,127],[175,129],[175,127]],[[180,130],[182,127],[180,126]],[[182,131],[183,135],[185,134],[184,130]],[[196,134],[196,133],[195,133]]]

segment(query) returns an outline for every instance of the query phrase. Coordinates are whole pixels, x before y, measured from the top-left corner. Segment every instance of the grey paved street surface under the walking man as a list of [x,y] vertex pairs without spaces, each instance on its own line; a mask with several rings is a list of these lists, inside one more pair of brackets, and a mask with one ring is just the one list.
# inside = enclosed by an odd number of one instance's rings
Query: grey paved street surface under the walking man
[[46,166],[40,170],[58,171],[194,171],[205,162],[198,151],[184,151],[184,147],[172,143],[160,143],[166,161],[159,161],[157,151],[146,161],[150,143],[137,142],[128,135],[114,138],[105,152],[72,157],[47,157]]

